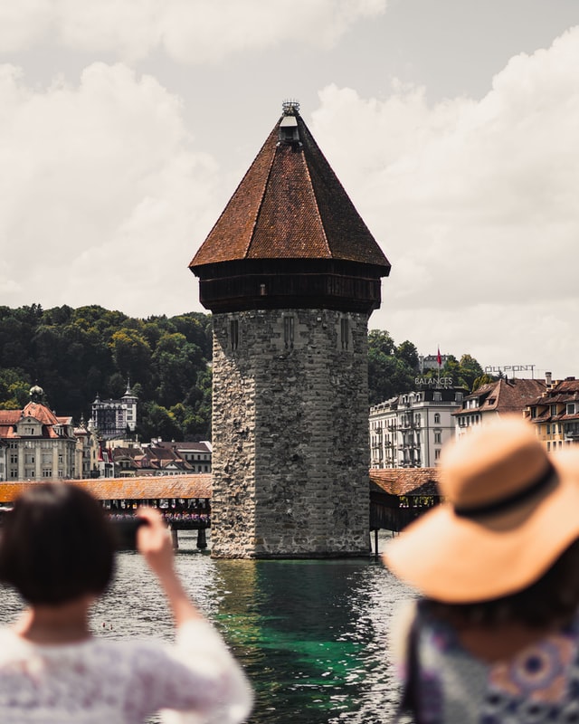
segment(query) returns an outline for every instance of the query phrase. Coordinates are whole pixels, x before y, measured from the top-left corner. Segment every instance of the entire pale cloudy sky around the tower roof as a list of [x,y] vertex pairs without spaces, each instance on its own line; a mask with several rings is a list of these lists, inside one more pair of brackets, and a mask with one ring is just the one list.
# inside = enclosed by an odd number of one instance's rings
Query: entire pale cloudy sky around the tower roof
[[577,0],[0,5],[0,304],[202,310],[187,269],[297,99],[421,354],[579,376]]

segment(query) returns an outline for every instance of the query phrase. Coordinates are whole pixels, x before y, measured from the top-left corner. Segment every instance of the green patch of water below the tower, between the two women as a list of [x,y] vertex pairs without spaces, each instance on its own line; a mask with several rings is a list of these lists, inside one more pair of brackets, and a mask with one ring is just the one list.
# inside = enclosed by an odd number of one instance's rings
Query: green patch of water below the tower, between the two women
[[252,722],[382,722],[395,683],[386,631],[406,592],[369,560],[215,561],[218,620],[257,691]]

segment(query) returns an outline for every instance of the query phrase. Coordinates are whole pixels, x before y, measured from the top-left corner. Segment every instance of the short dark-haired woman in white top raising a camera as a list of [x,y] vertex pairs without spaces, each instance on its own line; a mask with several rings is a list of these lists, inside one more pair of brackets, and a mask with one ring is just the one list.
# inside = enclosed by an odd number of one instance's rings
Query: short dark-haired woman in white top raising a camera
[[[0,721],[143,722],[158,710],[183,721],[236,724],[252,692],[223,640],[175,571],[169,531],[141,509],[138,551],[176,622],[176,645],[101,640],[90,607],[109,585],[116,541],[99,503],[67,483],[33,484],[5,515],[0,580],[29,608],[0,630]],[[170,714],[169,714],[170,716]]]

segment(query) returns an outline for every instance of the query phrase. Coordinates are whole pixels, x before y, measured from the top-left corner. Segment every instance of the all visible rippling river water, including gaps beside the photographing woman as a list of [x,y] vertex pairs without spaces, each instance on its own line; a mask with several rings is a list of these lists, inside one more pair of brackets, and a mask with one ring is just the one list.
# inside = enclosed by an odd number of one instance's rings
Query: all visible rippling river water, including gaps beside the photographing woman
[[[213,560],[181,536],[185,587],[223,632],[256,691],[251,724],[382,724],[396,685],[386,633],[404,587],[373,559]],[[17,597],[0,590],[2,622]],[[95,607],[95,633],[171,640],[157,581],[136,554],[119,556],[114,586]]]

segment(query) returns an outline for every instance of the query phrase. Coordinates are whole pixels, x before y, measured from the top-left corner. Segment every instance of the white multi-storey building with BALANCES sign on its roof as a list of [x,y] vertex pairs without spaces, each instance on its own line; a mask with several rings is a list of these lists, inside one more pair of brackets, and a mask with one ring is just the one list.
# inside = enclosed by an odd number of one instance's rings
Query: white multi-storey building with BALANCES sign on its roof
[[397,395],[370,408],[370,467],[432,468],[454,436],[452,413],[466,390],[443,387]]

